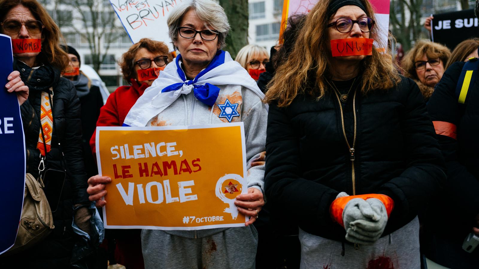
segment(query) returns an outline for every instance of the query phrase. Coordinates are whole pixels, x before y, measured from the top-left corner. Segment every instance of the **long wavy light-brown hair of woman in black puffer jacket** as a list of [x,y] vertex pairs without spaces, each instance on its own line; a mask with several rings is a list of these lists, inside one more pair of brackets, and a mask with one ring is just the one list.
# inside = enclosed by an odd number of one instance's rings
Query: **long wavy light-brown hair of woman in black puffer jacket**
[[[330,42],[326,25],[329,1],[319,1],[308,13],[301,29],[297,33],[296,43],[286,62],[279,66],[270,81],[269,90],[263,100],[266,103],[277,101],[279,107],[286,107],[298,94],[306,93],[320,99],[326,92],[325,75],[330,74],[331,63],[328,44]],[[366,15],[375,20],[374,9],[368,0],[361,0]],[[334,14],[333,14],[334,16]],[[375,20],[376,21],[376,20]],[[379,27],[370,32],[370,37],[379,42]],[[379,44],[385,48],[387,44]],[[374,46],[375,47],[375,46]],[[391,56],[373,48],[373,55],[361,61],[363,79],[361,91],[387,90],[400,81],[399,74],[392,63]],[[306,87],[308,80],[315,77],[315,87]]]

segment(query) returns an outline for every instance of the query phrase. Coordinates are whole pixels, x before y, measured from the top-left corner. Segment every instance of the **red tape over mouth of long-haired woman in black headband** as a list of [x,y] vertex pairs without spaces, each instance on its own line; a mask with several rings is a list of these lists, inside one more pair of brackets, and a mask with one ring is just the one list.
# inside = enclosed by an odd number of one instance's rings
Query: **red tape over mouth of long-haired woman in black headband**
[[370,38],[344,38],[331,40],[331,53],[333,57],[373,55],[373,39]]

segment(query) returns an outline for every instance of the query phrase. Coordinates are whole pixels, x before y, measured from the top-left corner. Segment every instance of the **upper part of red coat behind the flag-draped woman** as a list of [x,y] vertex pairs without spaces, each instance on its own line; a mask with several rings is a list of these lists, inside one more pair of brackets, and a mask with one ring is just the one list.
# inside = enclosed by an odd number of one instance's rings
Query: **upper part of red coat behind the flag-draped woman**
[[[100,116],[96,126],[121,126],[125,121],[126,114],[137,102],[138,98],[148,88],[148,84],[138,85],[135,79],[131,80],[131,85],[120,86],[106,100],[106,104],[100,110]],[[95,149],[96,131],[90,138],[91,152],[96,157]]]

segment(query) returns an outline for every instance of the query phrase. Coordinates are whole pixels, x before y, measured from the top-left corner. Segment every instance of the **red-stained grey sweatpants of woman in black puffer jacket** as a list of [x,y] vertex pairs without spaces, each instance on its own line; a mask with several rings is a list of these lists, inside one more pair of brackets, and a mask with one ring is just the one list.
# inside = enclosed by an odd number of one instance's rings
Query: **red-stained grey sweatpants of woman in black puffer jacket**
[[301,269],[420,269],[419,220],[390,235],[379,238],[372,246],[326,239],[299,229]]

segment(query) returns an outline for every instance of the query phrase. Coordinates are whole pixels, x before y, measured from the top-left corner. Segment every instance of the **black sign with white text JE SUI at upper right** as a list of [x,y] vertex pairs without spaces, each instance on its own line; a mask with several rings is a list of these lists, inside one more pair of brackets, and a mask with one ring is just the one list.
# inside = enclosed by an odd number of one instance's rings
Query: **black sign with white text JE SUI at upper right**
[[433,16],[432,40],[447,46],[450,50],[468,38],[479,37],[479,20],[474,15],[473,9]]

